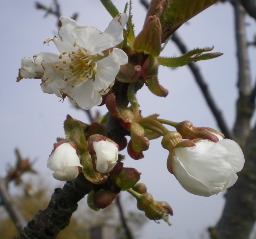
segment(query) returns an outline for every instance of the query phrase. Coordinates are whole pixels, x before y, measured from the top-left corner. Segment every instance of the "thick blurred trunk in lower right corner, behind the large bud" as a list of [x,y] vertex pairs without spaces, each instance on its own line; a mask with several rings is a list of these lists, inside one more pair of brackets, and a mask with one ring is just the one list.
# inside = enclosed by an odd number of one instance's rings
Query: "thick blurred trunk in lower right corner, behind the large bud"
[[226,194],[222,217],[214,229],[212,239],[248,239],[256,220],[256,128],[243,148],[245,165],[238,180]]

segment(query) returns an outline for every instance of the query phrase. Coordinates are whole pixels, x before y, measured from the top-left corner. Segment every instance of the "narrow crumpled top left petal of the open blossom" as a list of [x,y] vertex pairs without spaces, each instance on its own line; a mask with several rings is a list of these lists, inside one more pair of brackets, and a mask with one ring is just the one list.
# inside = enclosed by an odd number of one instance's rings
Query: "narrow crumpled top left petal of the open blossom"
[[74,47],[73,45],[75,39],[71,35],[72,29],[78,26],[77,22],[66,16],[61,16],[60,21],[62,23],[62,27],[59,30],[59,35],[62,37],[62,41],[56,37],[54,37],[52,41],[54,42],[60,53],[64,51],[77,50],[77,47]]

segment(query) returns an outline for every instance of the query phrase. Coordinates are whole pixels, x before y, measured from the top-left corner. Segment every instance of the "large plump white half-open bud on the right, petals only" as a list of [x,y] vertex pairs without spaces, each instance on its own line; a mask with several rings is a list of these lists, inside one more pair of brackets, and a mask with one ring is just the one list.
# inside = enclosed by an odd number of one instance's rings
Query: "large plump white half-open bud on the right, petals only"
[[236,142],[221,138],[216,143],[200,140],[196,146],[174,149],[173,173],[188,192],[211,196],[236,182],[236,173],[244,166],[244,154]]

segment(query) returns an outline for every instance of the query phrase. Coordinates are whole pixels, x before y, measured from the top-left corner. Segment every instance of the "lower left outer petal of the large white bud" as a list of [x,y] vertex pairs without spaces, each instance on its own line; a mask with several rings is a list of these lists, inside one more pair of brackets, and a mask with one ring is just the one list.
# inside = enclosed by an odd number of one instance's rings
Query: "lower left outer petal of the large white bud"
[[194,178],[186,171],[186,168],[184,167],[182,162],[178,160],[178,157],[173,157],[172,166],[175,177],[185,190],[199,196],[212,196],[212,192],[210,192],[210,190],[204,183]]

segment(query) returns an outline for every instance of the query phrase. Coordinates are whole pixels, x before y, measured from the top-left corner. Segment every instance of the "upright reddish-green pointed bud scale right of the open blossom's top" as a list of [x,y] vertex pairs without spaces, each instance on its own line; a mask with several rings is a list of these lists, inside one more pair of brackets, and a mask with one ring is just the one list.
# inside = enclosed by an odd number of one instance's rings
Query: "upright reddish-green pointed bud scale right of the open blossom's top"
[[158,57],[161,52],[161,24],[157,16],[149,16],[135,38],[132,48]]

